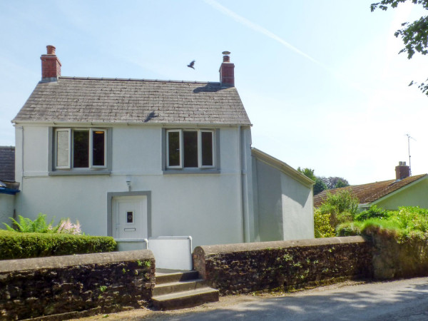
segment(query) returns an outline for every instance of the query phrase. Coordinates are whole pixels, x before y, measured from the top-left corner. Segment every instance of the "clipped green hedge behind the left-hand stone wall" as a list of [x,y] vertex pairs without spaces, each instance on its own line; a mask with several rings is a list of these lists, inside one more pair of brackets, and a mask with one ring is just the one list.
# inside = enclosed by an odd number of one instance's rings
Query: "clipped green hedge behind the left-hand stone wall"
[[116,250],[116,241],[110,236],[17,233],[0,230],[0,260],[100,253],[113,250]]

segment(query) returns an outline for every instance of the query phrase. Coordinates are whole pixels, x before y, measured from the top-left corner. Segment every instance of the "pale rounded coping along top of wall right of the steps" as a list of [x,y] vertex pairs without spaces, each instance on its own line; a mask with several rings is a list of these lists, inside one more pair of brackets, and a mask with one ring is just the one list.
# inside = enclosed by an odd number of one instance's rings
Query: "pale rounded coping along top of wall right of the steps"
[[319,245],[334,245],[344,243],[365,243],[367,240],[361,236],[345,236],[340,238],[313,238],[307,240],[285,240],[258,243],[236,243],[224,245],[201,245],[195,248],[196,255],[215,255],[220,253],[246,252],[254,250],[266,250],[267,248],[280,249],[292,247],[307,247]]

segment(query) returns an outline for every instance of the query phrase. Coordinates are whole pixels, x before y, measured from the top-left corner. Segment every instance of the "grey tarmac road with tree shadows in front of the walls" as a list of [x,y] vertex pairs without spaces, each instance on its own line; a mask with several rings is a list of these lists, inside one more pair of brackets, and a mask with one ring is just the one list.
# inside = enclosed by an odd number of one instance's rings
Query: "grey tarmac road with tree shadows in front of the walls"
[[[239,296],[238,296],[239,297]],[[225,297],[175,312],[135,310],[105,320],[428,320],[428,277],[318,287],[276,297]],[[141,313],[141,314],[139,314]]]

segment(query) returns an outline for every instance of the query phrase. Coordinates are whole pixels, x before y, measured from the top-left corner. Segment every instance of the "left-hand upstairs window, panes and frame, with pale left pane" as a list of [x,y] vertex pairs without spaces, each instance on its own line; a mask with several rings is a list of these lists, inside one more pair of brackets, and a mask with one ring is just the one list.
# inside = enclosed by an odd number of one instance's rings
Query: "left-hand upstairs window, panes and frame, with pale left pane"
[[106,129],[56,128],[54,168],[106,168]]

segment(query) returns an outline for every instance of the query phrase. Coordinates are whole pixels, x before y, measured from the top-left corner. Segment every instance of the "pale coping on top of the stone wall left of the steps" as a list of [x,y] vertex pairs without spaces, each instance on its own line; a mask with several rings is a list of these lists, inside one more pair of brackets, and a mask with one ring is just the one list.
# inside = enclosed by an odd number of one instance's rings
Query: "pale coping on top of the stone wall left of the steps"
[[0,272],[40,270],[74,265],[118,263],[136,260],[154,259],[151,250],[133,250],[77,255],[49,256],[46,258],[26,258],[18,260],[0,260]]

